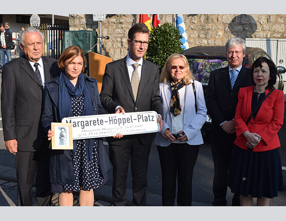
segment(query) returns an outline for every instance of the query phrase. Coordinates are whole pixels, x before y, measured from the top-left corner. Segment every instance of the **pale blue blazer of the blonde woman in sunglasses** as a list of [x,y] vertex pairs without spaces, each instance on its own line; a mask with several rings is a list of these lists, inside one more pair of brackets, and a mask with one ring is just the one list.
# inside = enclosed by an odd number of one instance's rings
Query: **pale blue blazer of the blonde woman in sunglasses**
[[[192,80],[191,80],[192,82]],[[200,145],[203,144],[201,128],[206,122],[206,103],[202,90],[202,84],[195,80],[195,90],[197,98],[197,113],[195,112],[195,96],[193,87],[191,84],[186,85],[185,92],[185,107],[184,107],[184,122],[183,131],[186,134],[189,145]],[[163,127],[160,133],[156,134],[155,144],[160,146],[169,146],[170,141],[163,138],[164,131],[169,129],[172,132],[172,116],[170,112],[170,102],[171,102],[171,87],[170,82],[160,83],[160,96],[162,99],[162,120]],[[176,131],[173,131],[176,133]]]

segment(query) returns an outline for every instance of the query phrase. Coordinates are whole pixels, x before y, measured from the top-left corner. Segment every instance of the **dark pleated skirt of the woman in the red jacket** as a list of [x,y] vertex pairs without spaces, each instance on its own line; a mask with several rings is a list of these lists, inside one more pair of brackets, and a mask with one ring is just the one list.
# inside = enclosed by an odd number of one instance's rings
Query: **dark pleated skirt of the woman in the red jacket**
[[247,197],[278,196],[283,191],[281,160],[278,148],[263,152],[241,149],[235,145],[228,171],[227,185],[232,193]]

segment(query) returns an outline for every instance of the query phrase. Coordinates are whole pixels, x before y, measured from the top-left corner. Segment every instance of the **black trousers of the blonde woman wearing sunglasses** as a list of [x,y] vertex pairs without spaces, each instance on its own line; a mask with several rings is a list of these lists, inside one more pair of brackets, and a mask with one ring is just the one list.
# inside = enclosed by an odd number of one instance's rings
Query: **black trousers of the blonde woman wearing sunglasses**
[[162,205],[173,206],[176,198],[178,174],[178,206],[192,204],[193,169],[199,154],[199,145],[171,143],[157,146],[162,170]]

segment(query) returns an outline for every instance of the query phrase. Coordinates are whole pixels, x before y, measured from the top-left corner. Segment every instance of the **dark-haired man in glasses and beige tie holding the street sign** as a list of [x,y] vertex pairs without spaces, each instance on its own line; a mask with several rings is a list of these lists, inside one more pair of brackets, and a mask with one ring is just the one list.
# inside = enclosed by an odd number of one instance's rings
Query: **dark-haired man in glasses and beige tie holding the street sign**
[[[106,65],[100,93],[101,103],[109,113],[154,110],[161,114],[159,68],[143,59],[147,51],[149,29],[143,23],[128,31],[129,53]],[[160,129],[161,116],[158,115]],[[120,131],[119,131],[120,132]],[[118,136],[117,136],[118,137]],[[120,137],[119,137],[120,138]],[[134,205],[146,205],[147,165],[153,134],[106,138],[113,165],[112,196],[114,205],[126,205],[126,178],[131,158]]]

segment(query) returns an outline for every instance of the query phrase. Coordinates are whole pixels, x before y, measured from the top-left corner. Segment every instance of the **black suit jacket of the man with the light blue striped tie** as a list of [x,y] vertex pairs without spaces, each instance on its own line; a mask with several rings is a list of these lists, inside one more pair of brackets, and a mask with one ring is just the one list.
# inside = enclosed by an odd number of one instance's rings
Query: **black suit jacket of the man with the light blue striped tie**
[[210,73],[206,106],[212,118],[211,140],[219,142],[224,140],[234,141],[236,138],[235,133],[227,134],[219,125],[225,120],[234,119],[239,89],[253,84],[249,68],[241,68],[233,88],[230,84],[228,66]]

